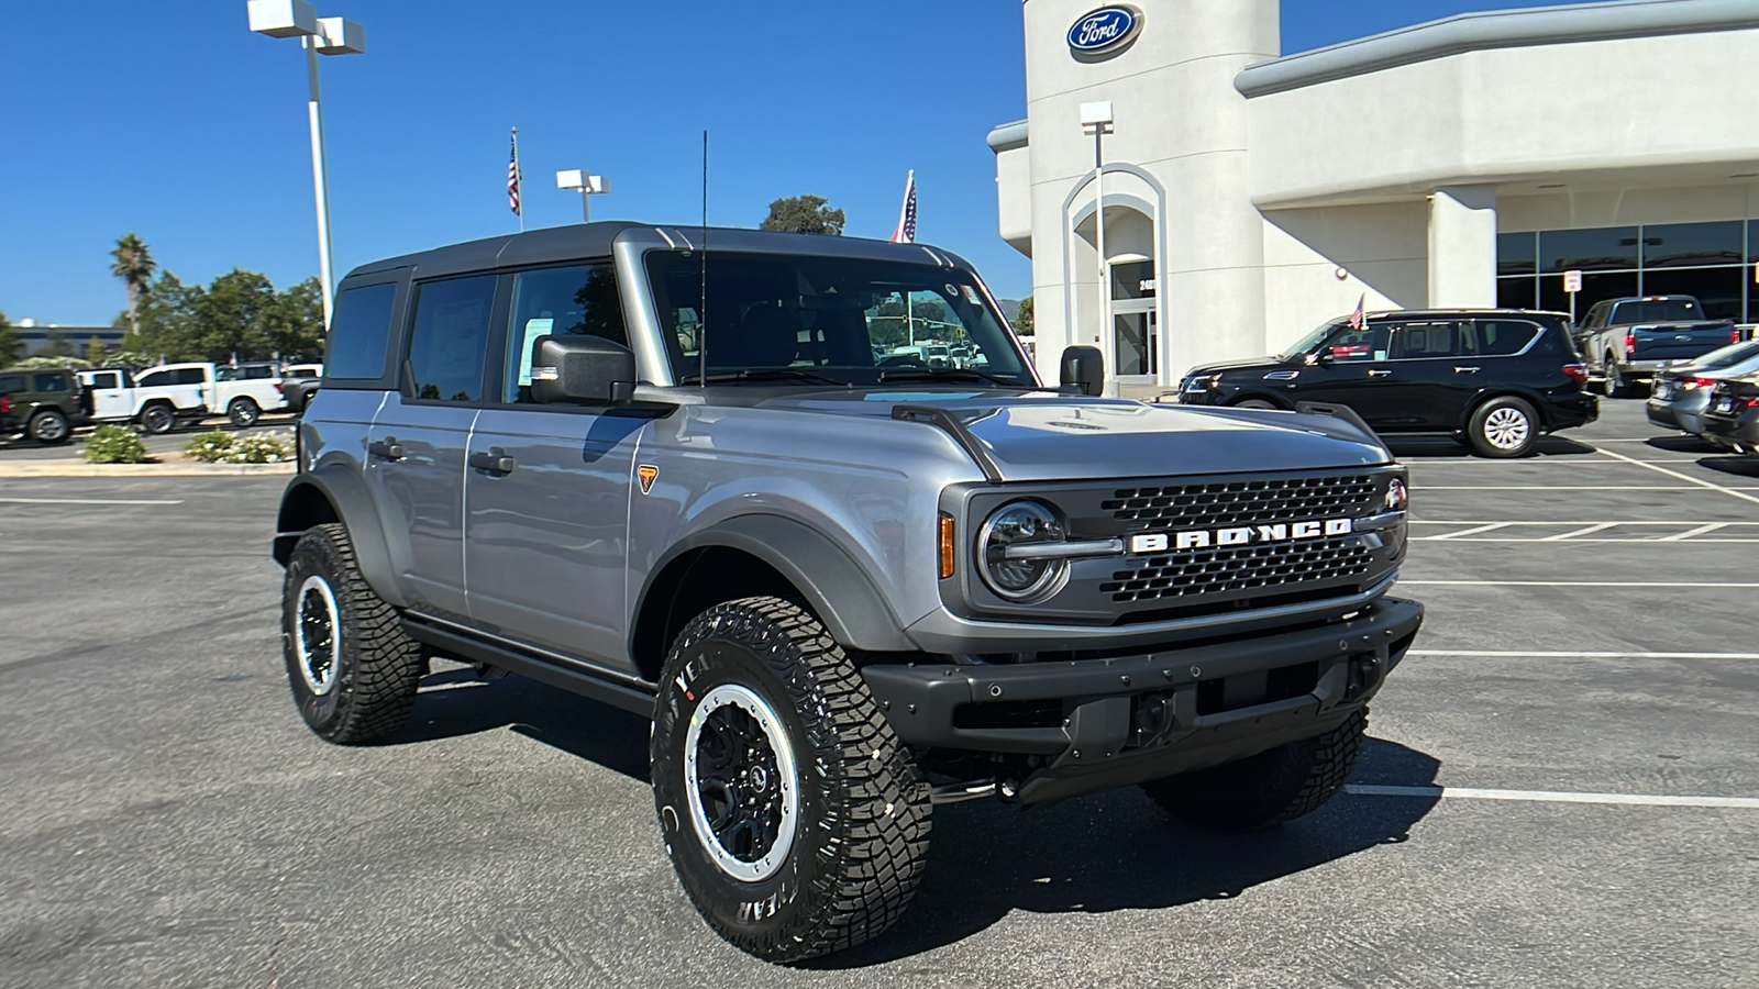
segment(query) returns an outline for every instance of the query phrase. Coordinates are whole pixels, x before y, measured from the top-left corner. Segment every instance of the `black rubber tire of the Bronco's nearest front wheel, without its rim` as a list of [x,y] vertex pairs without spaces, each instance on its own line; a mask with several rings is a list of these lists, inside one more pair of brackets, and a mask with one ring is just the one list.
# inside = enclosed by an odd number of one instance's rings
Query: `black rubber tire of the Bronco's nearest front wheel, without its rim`
[[[799,787],[792,843],[755,882],[716,862],[691,817],[688,729],[726,685],[774,713]],[[716,933],[756,957],[788,963],[867,941],[902,915],[922,878],[927,783],[843,648],[792,602],[734,600],[684,626],[660,678],[649,760],[684,892]]]

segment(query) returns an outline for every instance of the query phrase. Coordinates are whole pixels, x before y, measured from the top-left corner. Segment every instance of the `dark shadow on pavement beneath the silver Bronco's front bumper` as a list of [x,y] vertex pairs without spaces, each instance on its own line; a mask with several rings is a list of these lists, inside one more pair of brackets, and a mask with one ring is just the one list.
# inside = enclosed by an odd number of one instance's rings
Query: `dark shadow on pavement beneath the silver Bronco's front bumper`
[[[1441,762],[1369,739],[1353,783],[1432,787]],[[846,970],[929,952],[1033,913],[1164,910],[1235,899],[1266,882],[1404,843],[1437,797],[1358,797],[1277,829],[1224,834],[1179,824],[1136,788],[1018,811],[936,808],[929,869],[904,919],[878,940],[804,968]],[[1177,938],[1177,915],[1166,919]]]

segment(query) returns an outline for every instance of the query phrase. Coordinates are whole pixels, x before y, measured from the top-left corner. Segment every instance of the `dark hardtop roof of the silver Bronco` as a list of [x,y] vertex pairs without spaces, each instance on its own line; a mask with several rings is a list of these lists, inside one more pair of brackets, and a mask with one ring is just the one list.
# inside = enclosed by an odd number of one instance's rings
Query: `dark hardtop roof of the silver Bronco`
[[[376,275],[398,267],[415,267],[417,276],[431,278],[438,275],[463,275],[466,271],[493,271],[500,267],[522,267],[531,264],[558,264],[591,257],[609,257],[616,239],[624,231],[653,232],[660,239],[675,241],[679,246],[695,248],[702,243],[702,227],[656,227],[633,220],[603,220],[596,223],[573,223],[570,227],[544,227],[522,234],[503,234],[480,241],[447,245],[417,253],[387,257],[362,264],[348,273],[348,278]],[[830,257],[864,257],[874,260],[901,260],[916,264],[946,264],[971,267],[962,257],[925,245],[895,245],[867,238],[834,238],[825,234],[785,234],[779,231],[741,231],[732,227],[709,227],[709,252],[760,252],[760,253],[816,253]]]

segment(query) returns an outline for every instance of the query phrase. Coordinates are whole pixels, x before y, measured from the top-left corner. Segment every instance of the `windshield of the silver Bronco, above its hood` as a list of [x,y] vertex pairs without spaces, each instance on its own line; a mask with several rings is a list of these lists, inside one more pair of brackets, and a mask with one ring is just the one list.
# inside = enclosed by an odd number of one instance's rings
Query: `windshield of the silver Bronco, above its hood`
[[[967,271],[781,253],[712,253],[707,267],[704,329],[702,255],[647,253],[654,310],[679,384],[700,380],[705,363],[711,380],[848,385],[908,377],[1036,387],[1006,324]],[[707,361],[700,343],[707,343]],[[952,366],[952,343],[971,350],[971,368]]]

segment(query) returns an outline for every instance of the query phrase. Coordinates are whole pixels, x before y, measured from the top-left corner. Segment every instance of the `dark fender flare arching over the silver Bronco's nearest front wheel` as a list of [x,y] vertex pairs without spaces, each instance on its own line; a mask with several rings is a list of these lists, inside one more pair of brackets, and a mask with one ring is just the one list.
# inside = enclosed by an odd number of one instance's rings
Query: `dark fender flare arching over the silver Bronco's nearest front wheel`
[[635,614],[646,614],[647,595],[667,567],[686,553],[709,547],[739,549],[774,567],[839,644],[872,653],[916,651],[867,572],[830,537],[785,516],[735,516],[684,537],[649,570]]

